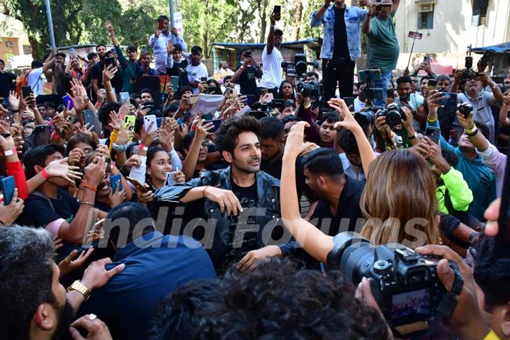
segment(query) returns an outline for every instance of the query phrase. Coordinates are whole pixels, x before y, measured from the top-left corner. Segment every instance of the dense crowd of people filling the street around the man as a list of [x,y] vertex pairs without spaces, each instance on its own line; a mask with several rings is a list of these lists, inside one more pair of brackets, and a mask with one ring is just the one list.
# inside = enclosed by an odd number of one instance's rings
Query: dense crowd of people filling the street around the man
[[[166,16],[140,52],[105,21],[112,50],[0,60],[2,339],[510,338],[510,72],[393,79],[399,2],[324,0],[320,72],[282,65],[278,11],[217,79]],[[385,309],[344,232],[442,258],[443,322],[395,327],[432,293]]]

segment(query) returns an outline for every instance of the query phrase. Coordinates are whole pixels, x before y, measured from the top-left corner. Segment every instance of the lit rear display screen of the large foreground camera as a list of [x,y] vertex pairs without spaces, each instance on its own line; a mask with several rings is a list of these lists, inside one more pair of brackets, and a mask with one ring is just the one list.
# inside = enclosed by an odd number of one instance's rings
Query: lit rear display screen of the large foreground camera
[[431,296],[429,289],[392,296],[392,317],[409,317],[412,315],[428,316],[431,314]]

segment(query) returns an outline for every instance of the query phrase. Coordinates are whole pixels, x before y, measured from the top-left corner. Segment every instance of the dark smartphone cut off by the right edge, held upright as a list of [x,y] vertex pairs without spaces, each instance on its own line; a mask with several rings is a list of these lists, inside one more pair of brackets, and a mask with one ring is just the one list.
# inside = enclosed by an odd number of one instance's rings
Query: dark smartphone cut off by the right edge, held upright
[[510,142],[506,148],[506,168],[503,179],[503,192],[499,205],[496,252],[499,256],[510,257]]

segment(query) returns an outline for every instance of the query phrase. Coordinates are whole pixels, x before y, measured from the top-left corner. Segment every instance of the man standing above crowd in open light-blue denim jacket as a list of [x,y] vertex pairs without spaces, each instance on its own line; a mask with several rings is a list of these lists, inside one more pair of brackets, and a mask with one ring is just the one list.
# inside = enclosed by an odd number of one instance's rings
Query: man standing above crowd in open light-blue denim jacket
[[[360,0],[361,6],[370,3]],[[335,96],[339,86],[341,97],[351,97],[354,82],[354,60],[361,57],[360,26],[368,10],[347,6],[345,0],[324,0],[324,5],[312,13],[310,26],[324,25],[324,39],[320,57],[326,98]]]

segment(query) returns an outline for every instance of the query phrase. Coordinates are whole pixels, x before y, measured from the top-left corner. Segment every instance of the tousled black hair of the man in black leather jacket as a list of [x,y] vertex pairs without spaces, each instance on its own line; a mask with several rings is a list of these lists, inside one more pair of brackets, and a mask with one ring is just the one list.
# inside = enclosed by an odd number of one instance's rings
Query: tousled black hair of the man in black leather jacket
[[234,149],[239,141],[238,136],[242,132],[254,132],[254,134],[258,136],[260,128],[261,123],[259,120],[249,115],[225,120],[216,131],[216,147],[218,152],[222,154],[222,152],[227,151],[233,155]]

